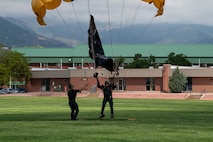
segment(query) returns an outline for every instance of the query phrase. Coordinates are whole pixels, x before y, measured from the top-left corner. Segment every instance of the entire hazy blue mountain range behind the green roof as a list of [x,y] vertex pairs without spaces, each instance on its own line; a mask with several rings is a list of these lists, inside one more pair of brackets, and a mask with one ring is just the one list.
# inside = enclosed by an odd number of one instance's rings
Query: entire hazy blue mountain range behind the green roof
[[[37,23],[0,17],[0,42],[8,46],[72,47],[87,43],[89,23],[72,24],[69,30],[61,24],[44,27]],[[102,44],[209,44],[213,41],[213,26],[197,24],[135,24],[106,27],[96,23]]]

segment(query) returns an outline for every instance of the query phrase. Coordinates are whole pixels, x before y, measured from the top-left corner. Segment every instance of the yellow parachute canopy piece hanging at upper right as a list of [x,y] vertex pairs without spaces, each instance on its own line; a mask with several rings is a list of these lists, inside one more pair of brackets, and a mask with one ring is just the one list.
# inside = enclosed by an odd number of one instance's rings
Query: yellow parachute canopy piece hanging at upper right
[[163,15],[163,7],[165,4],[165,0],[143,0],[144,2],[148,2],[149,4],[154,3],[155,7],[158,9],[158,12],[155,16]]

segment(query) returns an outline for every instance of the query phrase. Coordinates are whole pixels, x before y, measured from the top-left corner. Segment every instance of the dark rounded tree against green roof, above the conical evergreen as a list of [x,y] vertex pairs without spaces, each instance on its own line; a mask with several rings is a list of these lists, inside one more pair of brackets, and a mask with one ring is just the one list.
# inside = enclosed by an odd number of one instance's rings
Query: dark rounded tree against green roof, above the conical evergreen
[[175,55],[174,52],[171,52],[168,55],[168,60],[166,60],[167,64],[171,65],[179,65],[179,66],[191,66],[191,62],[187,59],[187,56],[183,54]]

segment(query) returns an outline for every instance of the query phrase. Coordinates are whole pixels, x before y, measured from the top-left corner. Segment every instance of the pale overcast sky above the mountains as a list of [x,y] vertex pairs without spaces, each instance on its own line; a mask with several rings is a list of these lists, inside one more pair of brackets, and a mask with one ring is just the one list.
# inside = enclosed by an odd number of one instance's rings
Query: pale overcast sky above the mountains
[[[45,21],[47,25],[63,20],[70,23],[77,19],[79,22],[88,21],[90,12],[96,21],[110,21],[112,24],[161,22],[213,26],[212,7],[213,0],[166,0],[163,16],[154,18],[157,9],[141,0],[75,0],[72,4],[62,2],[57,10],[47,11]],[[31,0],[1,0],[0,16],[36,19]]]

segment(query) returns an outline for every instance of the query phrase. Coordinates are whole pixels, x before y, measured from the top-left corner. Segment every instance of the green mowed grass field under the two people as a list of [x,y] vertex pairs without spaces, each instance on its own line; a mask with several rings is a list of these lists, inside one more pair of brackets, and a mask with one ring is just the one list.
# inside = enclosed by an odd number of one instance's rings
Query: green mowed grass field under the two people
[[213,102],[114,99],[115,118],[99,120],[101,98],[0,97],[1,142],[212,142]]

